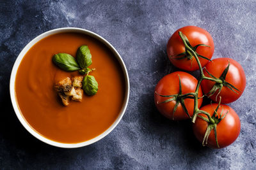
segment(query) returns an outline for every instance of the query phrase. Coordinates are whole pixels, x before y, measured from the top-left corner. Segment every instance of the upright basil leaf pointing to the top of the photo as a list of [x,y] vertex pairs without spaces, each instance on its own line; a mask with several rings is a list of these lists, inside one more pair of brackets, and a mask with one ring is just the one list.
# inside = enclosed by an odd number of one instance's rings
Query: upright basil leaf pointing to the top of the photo
[[92,55],[87,45],[82,45],[77,50],[77,62],[82,69],[92,64]]

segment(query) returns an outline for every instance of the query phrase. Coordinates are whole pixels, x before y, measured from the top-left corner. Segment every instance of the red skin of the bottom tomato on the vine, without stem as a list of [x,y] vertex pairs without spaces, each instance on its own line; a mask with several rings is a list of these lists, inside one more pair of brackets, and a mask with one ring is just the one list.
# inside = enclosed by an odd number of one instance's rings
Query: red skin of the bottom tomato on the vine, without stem
[[[214,103],[214,104],[208,104],[204,107],[202,107],[200,110],[204,110],[207,111],[211,116],[214,113],[214,110],[217,108],[218,104]],[[225,104],[221,104],[220,108],[218,109],[217,113],[220,116],[221,111],[223,110],[222,116],[225,115],[225,113],[227,113],[227,115],[223,118],[223,120],[221,120],[218,124],[217,124],[217,139],[218,139],[218,144],[220,146],[220,148],[224,148],[228,145],[230,145],[231,143],[233,143],[236,138],[239,136],[240,133],[240,128],[241,128],[241,124],[240,124],[240,120],[239,117],[236,113],[236,111],[234,111],[232,108],[230,108],[229,106],[225,105]],[[199,114],[202,117],[207,118],[206,115],[204,114]],[[207,125],[208,123],[205,120],[202,120],[202,118],[197,117],[195,124],[193,124],[193,131],[194,134],[196,136],[196,138],[198,139],[198,141],[200,141],[201,143],[203,142],[204,139],[204,135],[205,135],[205,131],[207,129]],[[216,145],[216,139],[214,136],[214,131],[212,129],[208,141],[207,141],[207,146],[211,147],[211,148],[218,148],[218,146]]]

